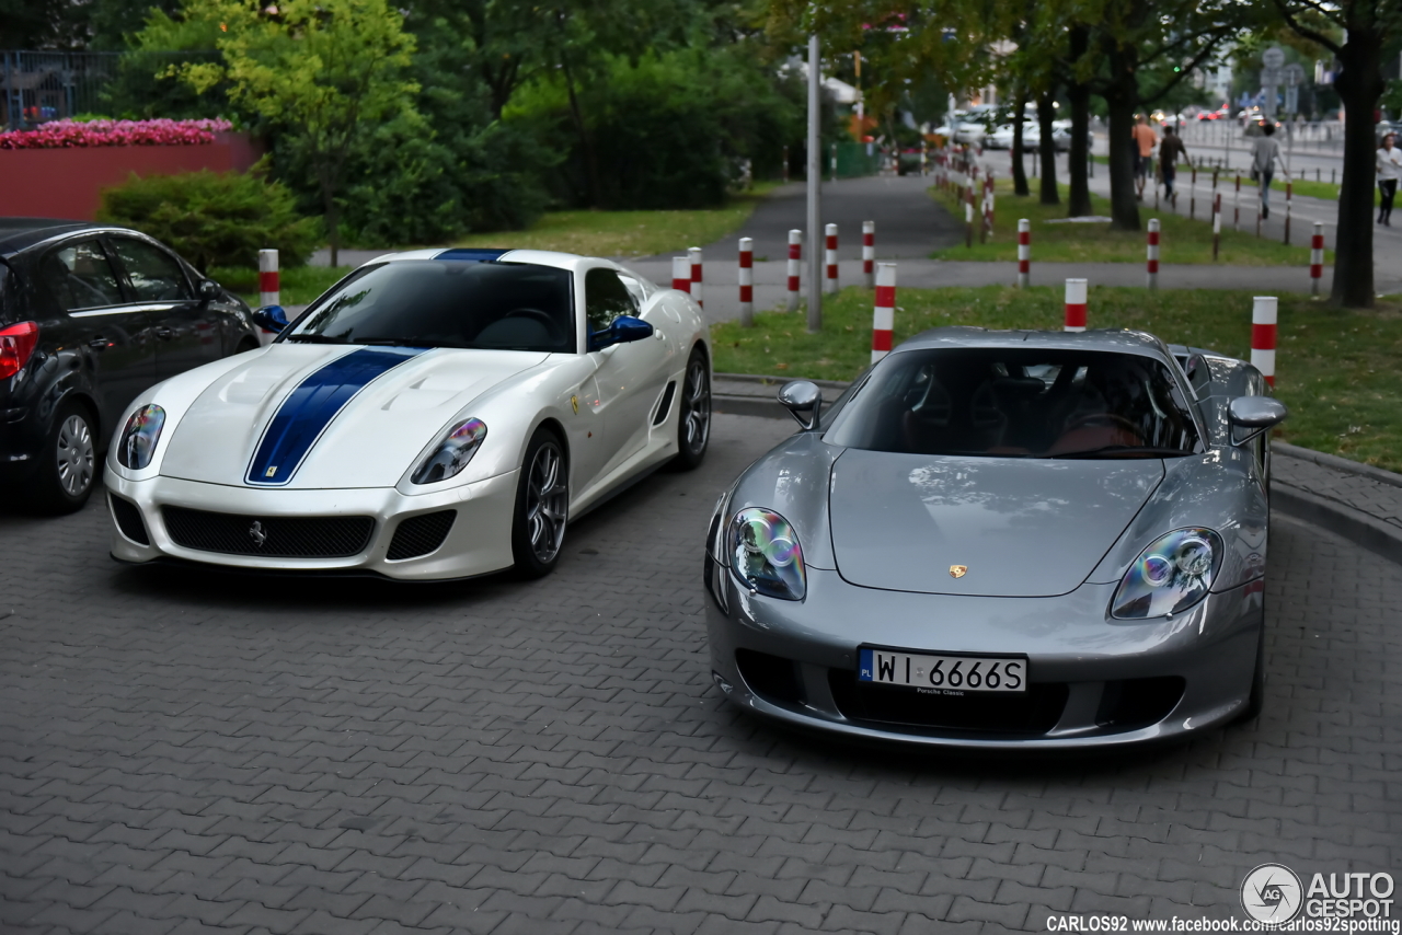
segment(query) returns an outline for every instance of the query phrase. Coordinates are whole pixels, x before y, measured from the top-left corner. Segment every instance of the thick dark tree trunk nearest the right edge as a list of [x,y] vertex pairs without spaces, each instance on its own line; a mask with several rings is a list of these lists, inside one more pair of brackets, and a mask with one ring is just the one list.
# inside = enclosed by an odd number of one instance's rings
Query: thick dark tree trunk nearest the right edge
[[[1335,237],[1333,289],[1338,306],[1373,306],[1373,111],[1387,83],[1382,52],[1402,36],[1396,0],[1274,0],[1286,25],[1330,50],[1340,71],[1333,87],[1343,101],[1343,179]],[[1347,36],[1340,39],[1339,35]]]

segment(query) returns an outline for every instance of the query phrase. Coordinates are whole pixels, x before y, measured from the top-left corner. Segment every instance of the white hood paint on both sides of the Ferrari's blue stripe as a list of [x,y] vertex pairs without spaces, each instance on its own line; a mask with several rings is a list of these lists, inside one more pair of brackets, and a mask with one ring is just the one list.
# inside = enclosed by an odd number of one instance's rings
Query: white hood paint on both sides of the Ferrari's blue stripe
[[[287,395],[356,349],[282,342],[224,373],[179,421],[161,475],[244,486],[264,429]],[[464,405],[548,356],[439,348],[407,359],[331,419],[283,489],[394,486]]]

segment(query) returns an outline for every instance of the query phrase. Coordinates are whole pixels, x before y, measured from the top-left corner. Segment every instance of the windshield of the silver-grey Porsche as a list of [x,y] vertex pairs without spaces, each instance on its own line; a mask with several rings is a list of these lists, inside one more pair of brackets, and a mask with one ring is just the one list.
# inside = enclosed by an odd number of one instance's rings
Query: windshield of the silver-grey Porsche
[[1033,458],[1175,457],[1199,444],[1162,362],[1021,348],[890,355],[824,437],[869,451]]

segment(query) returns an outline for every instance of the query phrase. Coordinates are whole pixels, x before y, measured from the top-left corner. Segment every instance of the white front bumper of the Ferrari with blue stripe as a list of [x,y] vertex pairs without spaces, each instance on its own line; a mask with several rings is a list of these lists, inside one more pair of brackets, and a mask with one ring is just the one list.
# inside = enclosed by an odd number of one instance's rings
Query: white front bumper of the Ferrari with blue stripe
[[[175,558],[251,571],[362,572],[398,580],[486,575],[513,564],[512,514],[517,474],[519,471],[510,471],[449,491],[405,496],[394,488],[269,491],[167,477],[130,481],[109,470],[107,489],[108,509],[114,512],[112,558],[132,564]],[[125,505],[115,498],[125,500]],[[130,507],[137,510],[140,527],[130,523]],[[179,544],[167,523],[165,507],[222,514],[217,517],[222,526],[237,527],[240,533],[230,547],[238,551],[212,551]],[[390,558],[390,547],[401,523],[444,512],[454,516],[442,542],[409,558]],[[265,534],[264,528],[272,531],[280,520],[287,519],[324,517],[369,517],[373,528],[366,535],[365,545],[353,555],[292,558],[257,554],[257,535]],[[247,530],[243,528],[244,521]],[[254,521],[259,523],[257,534],[252,531]],[[241,538],[244,533],[248,535],[247,542]],[[143,537],[146,542],[140,541]]]

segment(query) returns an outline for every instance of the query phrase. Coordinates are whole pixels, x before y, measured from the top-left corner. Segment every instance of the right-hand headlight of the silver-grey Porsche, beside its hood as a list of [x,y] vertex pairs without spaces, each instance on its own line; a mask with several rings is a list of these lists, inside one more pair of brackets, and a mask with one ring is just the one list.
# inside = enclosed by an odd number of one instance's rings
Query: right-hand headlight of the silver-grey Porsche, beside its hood
[[1110,615],[1145,620],[1187,610],[1207,596],[1221,551],[1221,538],[1209,528],[1182,528],[1161,537],[1124,572]]

